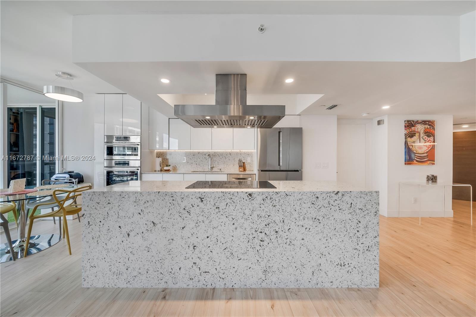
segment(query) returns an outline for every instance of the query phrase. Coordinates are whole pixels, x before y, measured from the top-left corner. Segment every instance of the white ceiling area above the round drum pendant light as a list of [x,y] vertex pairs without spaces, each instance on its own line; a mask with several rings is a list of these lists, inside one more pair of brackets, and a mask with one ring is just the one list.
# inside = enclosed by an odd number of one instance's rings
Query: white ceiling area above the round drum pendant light
[[[0,1],[1,77],[43,90],[57,78],[56,72],[64,71],[73,75],[73,87],[85,94],[98,89],[121,92],[71,62],[72,15],[60,8],[69,1],[42,2]],[[62,79],[55,84],[69,87]]]

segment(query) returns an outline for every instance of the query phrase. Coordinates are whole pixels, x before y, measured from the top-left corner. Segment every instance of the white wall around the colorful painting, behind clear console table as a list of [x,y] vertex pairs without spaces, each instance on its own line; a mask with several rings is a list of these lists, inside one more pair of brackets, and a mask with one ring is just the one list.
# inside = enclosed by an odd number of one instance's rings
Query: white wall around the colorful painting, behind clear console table
[[[383,126],[377,120],[384,119]],[[405,165],[404,162],[404,121],[411,119],[436,120],[435,165]],[[380,214],[398,217],[398,182],[422,181],[428,174],[436,174],[438,182],[453,180],[453,117],[451,115],[388,115],[372,120],[372,188],[380,192]],[[418,217],[421,210],[425,217],[452,217],[451,188],[446,188],[445,196],[441,187],[422,188],[401,185],[400,217]],[[413,198],[417,198],[414,204]]]

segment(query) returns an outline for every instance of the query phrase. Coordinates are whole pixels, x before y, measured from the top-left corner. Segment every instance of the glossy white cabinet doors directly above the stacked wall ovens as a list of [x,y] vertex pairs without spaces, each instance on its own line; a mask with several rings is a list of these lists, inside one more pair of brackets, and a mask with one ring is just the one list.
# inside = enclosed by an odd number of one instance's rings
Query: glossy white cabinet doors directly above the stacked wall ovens
[[104,134],[140,135],[140,101],[125,94],[105,94]]

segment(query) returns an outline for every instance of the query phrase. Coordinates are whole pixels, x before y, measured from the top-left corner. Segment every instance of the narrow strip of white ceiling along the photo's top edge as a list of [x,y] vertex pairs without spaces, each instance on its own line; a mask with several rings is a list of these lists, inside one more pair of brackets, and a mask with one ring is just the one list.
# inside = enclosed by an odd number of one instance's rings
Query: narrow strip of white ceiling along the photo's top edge
[[[2,1],[3,2],[3,1]],[[22,1],[38,2],[38,1]],[[40,1],[72,15],[84,14],[326,14],[326,15],[462,15],[475,1],[358,0],[124,0]],[[27,4],[29,5],[29,4]]]

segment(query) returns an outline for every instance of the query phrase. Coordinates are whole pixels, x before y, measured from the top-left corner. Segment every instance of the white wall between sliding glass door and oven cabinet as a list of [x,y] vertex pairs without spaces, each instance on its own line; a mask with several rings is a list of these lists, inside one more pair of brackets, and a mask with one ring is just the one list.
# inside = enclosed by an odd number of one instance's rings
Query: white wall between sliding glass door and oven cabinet
[[[97,106],[95,98],[95,94],[87,94],[83,102],[63,102],[62,155],[69,157],[95,155],[94,118]],[[62,162],[62,168],[83,174],[84,181],[93,184],[94,164],[95,161],[92,160],[65,160]]]

